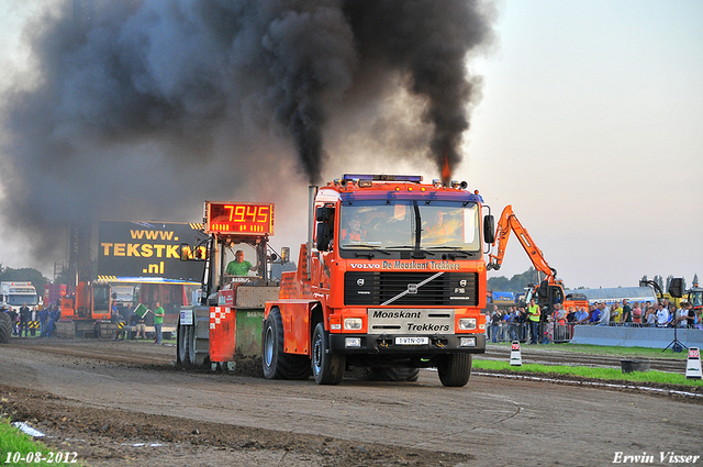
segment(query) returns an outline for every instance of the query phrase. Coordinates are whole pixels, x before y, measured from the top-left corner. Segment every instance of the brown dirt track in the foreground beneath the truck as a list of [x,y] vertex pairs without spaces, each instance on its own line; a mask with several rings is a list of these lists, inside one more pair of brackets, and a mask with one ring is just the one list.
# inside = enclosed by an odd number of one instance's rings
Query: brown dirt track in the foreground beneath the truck
[[662,451],[703,454],[701,398],[476,375],[444,388],[428,370],[416,383],[321,387],[182,371],[174,347],[133,342],[13,338],[0,355],[0,410],[91,466],[604,465],[616,452],[658,465]]

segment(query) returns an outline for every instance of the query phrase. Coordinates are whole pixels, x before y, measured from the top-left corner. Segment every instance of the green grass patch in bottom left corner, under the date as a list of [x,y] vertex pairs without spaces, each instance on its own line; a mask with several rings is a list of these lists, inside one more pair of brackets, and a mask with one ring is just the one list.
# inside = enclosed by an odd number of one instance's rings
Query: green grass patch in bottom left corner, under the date
[[[67,463],[60,460],[68,456]],[[24,460],[19,460],[19,459]],[[36,462],[36,459],[46,459]],[[10,424],[7,418],[0,418],[0,465],[9,466],[80,466],[80,463],[71,464],[74,454],[49,449],[32,436],[21,432]],[[51,460],[51,462],[49,462]]]

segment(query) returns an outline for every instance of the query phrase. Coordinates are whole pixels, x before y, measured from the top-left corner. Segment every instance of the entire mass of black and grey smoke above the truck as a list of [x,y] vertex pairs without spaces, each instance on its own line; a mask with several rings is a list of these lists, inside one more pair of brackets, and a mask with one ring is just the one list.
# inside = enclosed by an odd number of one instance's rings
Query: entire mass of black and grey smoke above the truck
[[454,168],[489,20],[465,0],[66,0],[26,25],[33,65],[1,96],[5,226],[46,255],[70,223],[170,219],[289,154],[317,184],[330,118],[399,78]]

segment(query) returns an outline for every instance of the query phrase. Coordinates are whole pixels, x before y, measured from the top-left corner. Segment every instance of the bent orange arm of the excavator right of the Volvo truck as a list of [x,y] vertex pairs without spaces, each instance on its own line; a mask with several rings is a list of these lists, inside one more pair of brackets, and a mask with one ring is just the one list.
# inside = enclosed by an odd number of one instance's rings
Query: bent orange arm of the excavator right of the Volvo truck
[[523,227],[517,220],[511,204],[507,204],[505,209],[503,209],[501,219],[498,222],[496,231],[495,241],[492,246],[495,246],[495,243],[498,243],[498,253],[495,255],[492,253],[489,254],[490,262],[487,266],[488,269],[498,270],[501,268],[503,256],[505,255],[505,247],[507,246],[507,240],[510,238],[511,231],[513,231],[515,232],[515,236],[517,236],[520,244],[525,248],[525,253],[529,256],[535,269],[547,276],[548,283],[553,283],[556,280],[557,270],[547,264],[542,251],[537,248],[535,242],[533,242],[525,227]]

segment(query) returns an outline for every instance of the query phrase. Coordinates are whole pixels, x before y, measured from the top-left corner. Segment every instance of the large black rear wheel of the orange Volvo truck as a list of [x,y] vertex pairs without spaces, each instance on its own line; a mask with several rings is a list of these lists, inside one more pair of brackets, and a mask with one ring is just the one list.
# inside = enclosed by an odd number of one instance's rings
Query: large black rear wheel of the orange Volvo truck
[[261,331],[261,366],[267,379],[308,379],[310,358],[283,352],[283,320],[278,308],[271,309]]

